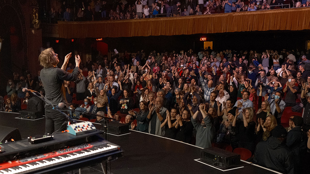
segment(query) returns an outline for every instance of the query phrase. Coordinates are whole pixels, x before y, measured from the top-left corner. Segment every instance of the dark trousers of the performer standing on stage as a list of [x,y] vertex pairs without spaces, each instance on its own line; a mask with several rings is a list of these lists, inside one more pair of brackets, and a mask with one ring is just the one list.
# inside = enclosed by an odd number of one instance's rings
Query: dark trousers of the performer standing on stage
[[67,124],[68,119],[64,114],[54,110],[51,106],[45,108],[45,134],[52,134],[57,130],[64,131]]

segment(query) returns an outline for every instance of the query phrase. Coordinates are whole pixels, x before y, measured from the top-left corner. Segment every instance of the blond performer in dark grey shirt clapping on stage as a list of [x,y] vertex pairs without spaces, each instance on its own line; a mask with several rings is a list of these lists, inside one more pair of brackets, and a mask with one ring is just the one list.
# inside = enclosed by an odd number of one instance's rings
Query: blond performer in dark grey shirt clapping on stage
[[65,68],[71,58],[69,53],[64,58],[64,64],[61,68],[57,67],[59,63],[58,54],[55,54],[52,48],[47,48],[39,55],[40,65],[44,68],[41,70],[40,77],[45,89],[45,97],[49,103],[45,105],[45,134],[52,134],[54,131],[64,131],[66,129],[65,122],[68,121],[66,116],[53,109],[58,103],[64,102],[65,107],[68,107],[68,102],[65,96],[64,80],[75,81],[80,74],[80,56],[75,55],[76,67],[72,73],[66,72]]

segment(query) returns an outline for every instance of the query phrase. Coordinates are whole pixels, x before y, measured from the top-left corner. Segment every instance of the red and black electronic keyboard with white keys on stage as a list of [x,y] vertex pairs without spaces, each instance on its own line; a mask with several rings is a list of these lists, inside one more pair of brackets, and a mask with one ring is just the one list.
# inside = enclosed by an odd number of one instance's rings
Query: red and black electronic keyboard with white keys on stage
[[[96,132],[98,134],[100,131]],[[0,159],[6,160],[0,163],[0,174],[65,172],[121,156],[119,146],[97,134],[72,136],[69,133],[59,133],[54,135],[53,140],[36,145],[29,144],[27,140],[2,144],[0,146],[4,152],[0,153]],[[66,139],[69,143],[64,142]],[[25,150],[18,149],[23,145],[27,145]],[[37,147],[36,150],[32,146]],[[10,147],[15,148],[15,153]]]

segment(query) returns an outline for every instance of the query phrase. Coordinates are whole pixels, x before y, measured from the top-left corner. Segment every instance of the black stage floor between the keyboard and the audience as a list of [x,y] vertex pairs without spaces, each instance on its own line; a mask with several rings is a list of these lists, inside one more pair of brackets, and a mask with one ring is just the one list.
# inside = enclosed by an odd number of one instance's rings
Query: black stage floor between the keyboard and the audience
[[[16,119],[18,114],[0,112],[0,125],[19,128],[22,138],[42,135],[45,132],[45,118],[39,120]],[[98,125],[99,127],[101,125]],[[159,174],[159,173],[251,173],[272,174],[269,169],[247,164],[242,168],[221,171],[195,161],[200,158],[201,148],[187,143],[154,136],[148,133],[130,131],[129,134],[108,135],[108,141],[121,146],[123,157],[111,162],[111,173]],[[109,167],[109,165],[108,165]],[[100,170],[100,167],[95,166]],[[82,173],[98,173],[84,168]],[[278,172],[276,172],[278,173]]]

